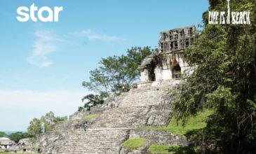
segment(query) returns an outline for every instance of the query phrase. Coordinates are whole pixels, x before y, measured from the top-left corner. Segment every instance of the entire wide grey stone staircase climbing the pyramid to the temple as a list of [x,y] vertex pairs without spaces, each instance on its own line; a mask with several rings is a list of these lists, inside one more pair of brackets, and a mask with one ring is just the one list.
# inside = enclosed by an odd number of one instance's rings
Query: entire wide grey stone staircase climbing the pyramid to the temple
[[[117,97],[119,108],[105,109],[88,130],[73,130],[58,147],[53,147],[50,153],[120,153],[121,143],[129,137],[130,129],[135,127],[150,127],[149,119],[151,114],[167,114],[166,111],[159,111],[156,106],[169,104],[168,88],[171,84],[156,87],[146,85],[130,90]],[[161,113],[159,113],[161,112]],[[151,118],[150,118],[151,116]],[[156,116],[153,115],[153,118]],[[65,135],[64,135],[65,136]],[[48,153],[41,149],[42,153]]]

